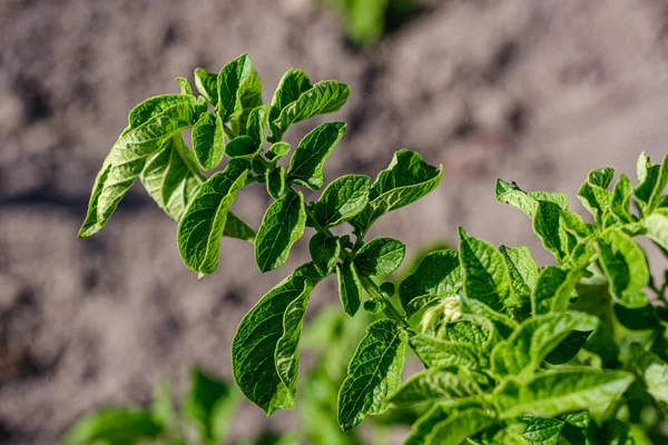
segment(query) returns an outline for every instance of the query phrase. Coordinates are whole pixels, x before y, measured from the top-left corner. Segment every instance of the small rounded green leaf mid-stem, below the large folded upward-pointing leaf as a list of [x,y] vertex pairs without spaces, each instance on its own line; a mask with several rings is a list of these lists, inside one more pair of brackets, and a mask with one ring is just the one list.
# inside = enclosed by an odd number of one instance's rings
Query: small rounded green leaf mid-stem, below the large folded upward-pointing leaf
[[355,269],[362,277],[385,276],[401,266],[406,246],[394,238],[375,238],[355,254]]

